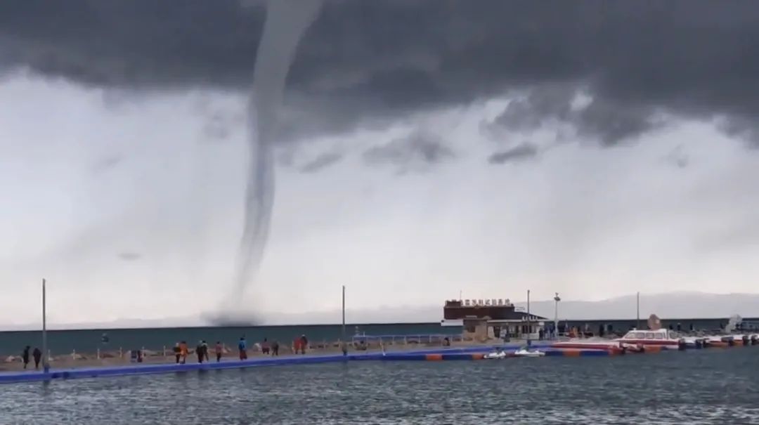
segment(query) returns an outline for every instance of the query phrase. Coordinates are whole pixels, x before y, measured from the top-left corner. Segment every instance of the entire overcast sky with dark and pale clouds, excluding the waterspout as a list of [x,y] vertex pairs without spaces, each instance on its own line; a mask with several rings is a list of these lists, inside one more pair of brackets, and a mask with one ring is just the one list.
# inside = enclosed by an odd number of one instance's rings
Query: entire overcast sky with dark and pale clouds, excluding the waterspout
[[[0,324],[228,294],[259,3],[0,3]],[[251,296],[757,292],[757,75],[750,1],[326,1]]]

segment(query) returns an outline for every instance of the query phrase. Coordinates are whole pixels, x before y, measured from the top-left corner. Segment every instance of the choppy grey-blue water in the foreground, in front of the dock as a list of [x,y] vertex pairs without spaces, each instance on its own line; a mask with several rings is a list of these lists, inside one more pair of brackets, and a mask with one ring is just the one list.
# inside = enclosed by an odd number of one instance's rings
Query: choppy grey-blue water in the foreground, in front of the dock
[[759,347],[9,385],[0,423],[759,423]]

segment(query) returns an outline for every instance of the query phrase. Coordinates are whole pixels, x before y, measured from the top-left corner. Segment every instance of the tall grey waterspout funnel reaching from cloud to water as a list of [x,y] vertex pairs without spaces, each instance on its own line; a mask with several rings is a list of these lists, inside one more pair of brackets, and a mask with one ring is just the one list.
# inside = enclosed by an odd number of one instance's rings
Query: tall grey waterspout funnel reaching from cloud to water
[[[288,70],[298,42],[322,5],[321,0],[270,0],[256,55],[253,90],[248,101],[250,162],[245,197],[244,227],[238,253],[235,286],[226,309],[250,311],[241,305],[263,260],[274,202],[273,143],[282,107]],[[260,304],[260,300],[255,301]],[[253,318],[250,315],[246,316]],[[226,321],[246,321],[227,318]],[[247,320],[250,321],[250,320]]]

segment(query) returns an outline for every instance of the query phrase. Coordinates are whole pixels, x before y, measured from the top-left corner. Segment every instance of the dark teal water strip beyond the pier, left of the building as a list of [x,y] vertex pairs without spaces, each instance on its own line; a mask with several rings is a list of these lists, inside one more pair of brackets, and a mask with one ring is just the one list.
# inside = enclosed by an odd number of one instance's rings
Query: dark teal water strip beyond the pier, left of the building
[[[346,333],[354,335],[359,332],[367,335],[415,335],[450,333],[461,335],[461,329],[444,328],[439,323],[409,323],[389,325],[348,325]],[[106,332],[109,342],[102,342]],[[159,328],[159,329],[108,329],[108,330],[71,330],[49,331],[48,347],[52,355],[94,353],[101,351],[118,351],[134,348],[161,350],[164,346],[171,348],[175,342],[184,340],[194,345],[201,339],[214,343],[220,341],[236,347],[241,336],[249,344],[268,338],[269,341],[290,342],[305,334],[311,342],[335,342],[340,339],[342,326],[339,325],[304,325],[304,326],[251,326],[251,327],[198,327],[198,328]],[[24,346],[42,346],[42,332],[0,332],[0,355],[19,355]]]

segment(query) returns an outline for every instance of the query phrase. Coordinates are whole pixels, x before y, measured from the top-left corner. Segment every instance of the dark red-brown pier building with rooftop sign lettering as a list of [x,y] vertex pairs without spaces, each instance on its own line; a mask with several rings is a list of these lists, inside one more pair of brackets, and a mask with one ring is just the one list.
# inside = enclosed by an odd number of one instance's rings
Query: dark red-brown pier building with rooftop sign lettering
[[449,300],[442,314],[441,326],[461,326],[463,338],[478,341],[505,336],[537,339],[547,320],[515,307],[508,298]]

